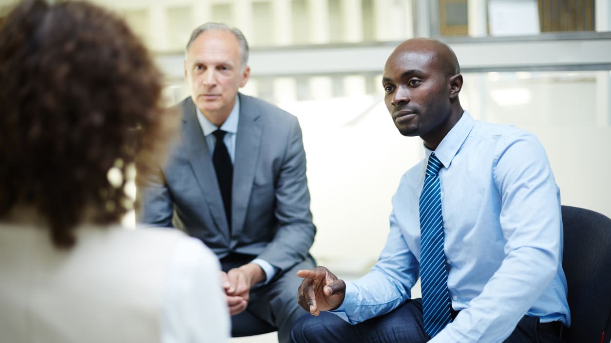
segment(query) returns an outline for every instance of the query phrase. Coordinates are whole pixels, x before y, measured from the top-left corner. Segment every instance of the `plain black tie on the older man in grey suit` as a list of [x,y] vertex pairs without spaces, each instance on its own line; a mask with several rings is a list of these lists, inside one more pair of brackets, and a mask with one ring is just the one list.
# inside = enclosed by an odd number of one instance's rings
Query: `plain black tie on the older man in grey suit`
[[223,197],[223,206],[225,207],[225,215],[227,215],[227,223],[229,224],[229,229],[231,229],[233,165],[231,163],[229,151],[227,151],[227,146],[225,146],[225,142],[223,142],[223,137],[225,137],[226,133],[227,132],[221,130],[212,132],[214,137],[216,137],[212,162],[214,163],[216,179],[219,181],[219,189],[221,189],[221,196]]

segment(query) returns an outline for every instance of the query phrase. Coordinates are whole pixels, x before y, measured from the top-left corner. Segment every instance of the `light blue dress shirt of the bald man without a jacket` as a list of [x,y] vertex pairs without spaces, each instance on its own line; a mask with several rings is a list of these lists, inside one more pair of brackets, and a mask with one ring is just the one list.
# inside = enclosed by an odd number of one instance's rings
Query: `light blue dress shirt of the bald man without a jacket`
[[[502,342],[525,314],[569,325],[560,190],[541,143],[464,112],[434,152],[444,164],[448,289],[461,312],[430,343]],[[410,297],[419,277],[419,198],[431,153],[426,149],[401,178],[379,261],[346,284],[333,312],[349,323],[386,314]]]

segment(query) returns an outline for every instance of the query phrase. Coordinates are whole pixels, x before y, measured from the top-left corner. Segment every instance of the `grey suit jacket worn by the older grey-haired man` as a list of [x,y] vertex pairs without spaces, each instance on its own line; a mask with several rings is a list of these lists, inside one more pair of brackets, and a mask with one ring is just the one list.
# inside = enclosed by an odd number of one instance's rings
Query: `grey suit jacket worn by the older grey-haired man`
[[219,258],[230,253],[253,255],[287,270],[308,256],[316,232],[301,127],[284,110],[238,96],[231,230],[190,97],[180,103],[180,142],[147,187],[139,189],[139,220],[185,229]]

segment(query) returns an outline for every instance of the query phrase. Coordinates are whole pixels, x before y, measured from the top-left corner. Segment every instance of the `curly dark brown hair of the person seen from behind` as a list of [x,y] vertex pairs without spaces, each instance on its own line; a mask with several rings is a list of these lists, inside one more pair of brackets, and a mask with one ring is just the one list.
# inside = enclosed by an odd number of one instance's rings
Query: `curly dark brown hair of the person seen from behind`
[[[119,222],[174,132],[161,74],[119,16],[87,2],[23,1],[0,26],[0,217],[37,210],[57,247],[84,220]],[[120,172],[120,173],[119,173]]]

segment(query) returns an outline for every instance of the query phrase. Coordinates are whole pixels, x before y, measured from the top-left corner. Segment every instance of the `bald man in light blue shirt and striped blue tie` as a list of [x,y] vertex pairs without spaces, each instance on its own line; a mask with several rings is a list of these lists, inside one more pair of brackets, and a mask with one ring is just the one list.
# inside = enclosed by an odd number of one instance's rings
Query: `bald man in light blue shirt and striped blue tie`
[[398,131],[419,136],[426,157],[401,178],[371,272],[345,283],[299,270],[298,303],[313,316],[293,341],[564,342],[560,191],[541,143],[463,110],[458,60],[437,40],[397,46],[382,86]]

